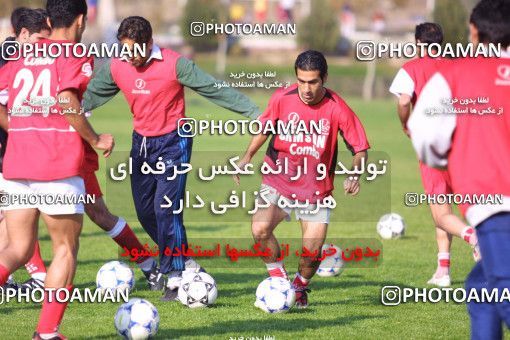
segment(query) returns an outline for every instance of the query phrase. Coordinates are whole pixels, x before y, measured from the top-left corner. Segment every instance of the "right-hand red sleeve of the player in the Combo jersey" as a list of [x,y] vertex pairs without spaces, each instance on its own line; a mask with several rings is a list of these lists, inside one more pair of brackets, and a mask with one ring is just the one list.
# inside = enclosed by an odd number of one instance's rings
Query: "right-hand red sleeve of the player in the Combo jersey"
[[353,155],[368,150],[370,145],[368,144],[365,129],[359,118],[346,103],[342,103],[340,115],[338,131],[347,149]]

